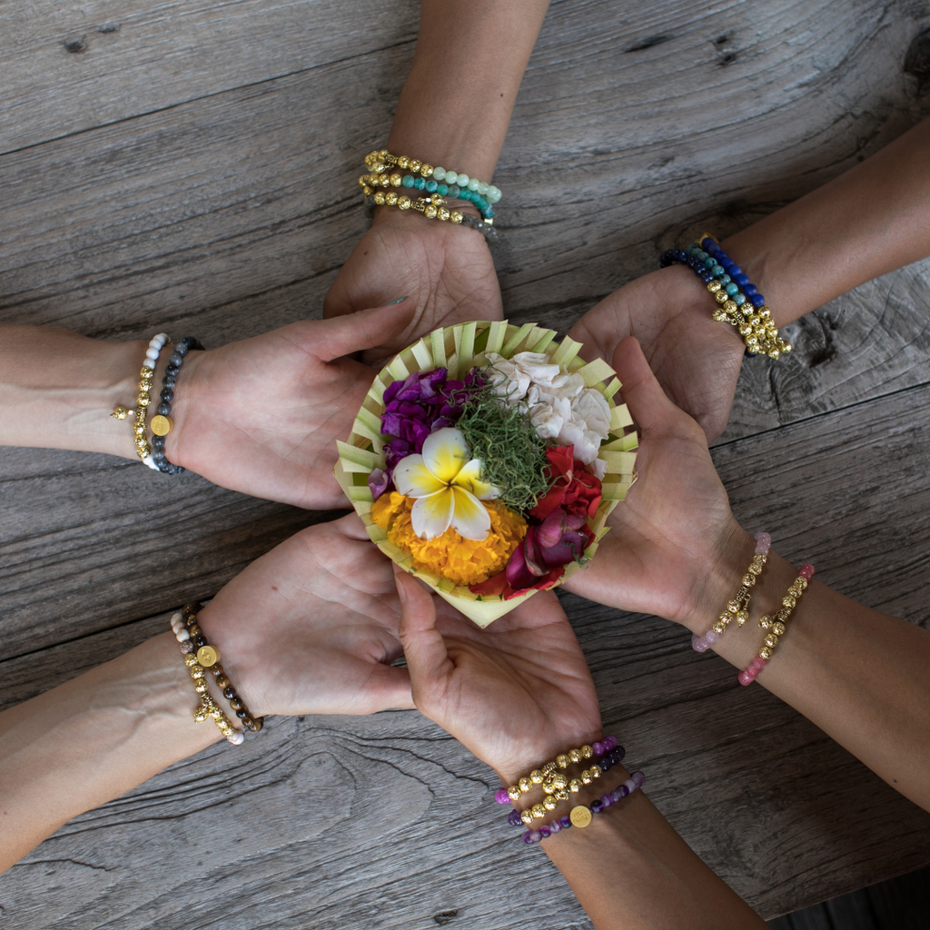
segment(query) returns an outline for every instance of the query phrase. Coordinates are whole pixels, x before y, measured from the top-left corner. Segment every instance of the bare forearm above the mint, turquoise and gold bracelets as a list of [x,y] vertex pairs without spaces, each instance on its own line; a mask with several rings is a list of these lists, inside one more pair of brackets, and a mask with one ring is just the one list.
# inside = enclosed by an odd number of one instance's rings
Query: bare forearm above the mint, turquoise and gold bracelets
[[388,148],[490,183],[549,0],[424,0]]

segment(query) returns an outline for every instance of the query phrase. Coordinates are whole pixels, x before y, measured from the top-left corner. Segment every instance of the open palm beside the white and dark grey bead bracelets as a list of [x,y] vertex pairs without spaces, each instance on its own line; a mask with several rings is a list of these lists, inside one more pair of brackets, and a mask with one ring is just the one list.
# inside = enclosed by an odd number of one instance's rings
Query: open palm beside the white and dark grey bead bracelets
[[168,461],[256,498],[339,507],[336,440],[348,437],[376,374],[344,356],[396,338],[412,312],[405,301],[189,352],[175,389]]

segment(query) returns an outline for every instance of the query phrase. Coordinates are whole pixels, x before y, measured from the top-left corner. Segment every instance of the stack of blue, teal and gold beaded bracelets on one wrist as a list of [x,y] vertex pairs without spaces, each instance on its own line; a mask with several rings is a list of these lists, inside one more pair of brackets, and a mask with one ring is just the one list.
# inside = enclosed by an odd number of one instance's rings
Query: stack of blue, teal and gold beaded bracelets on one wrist
[[777,359],[782,353],[790,352],[790,344],[778,336],[764,297],[749,283],[742,269],[726,255],[713,236],[702,235],[701,244],[704,248],[693,242],[686,251],[676,248],[664,252],[659,259],[660,266],[666,268],[679,262],[695,272],[720,304],[713,318],[725,320],[737,328],[749,355],[763,352]]

